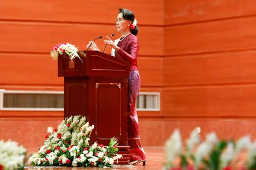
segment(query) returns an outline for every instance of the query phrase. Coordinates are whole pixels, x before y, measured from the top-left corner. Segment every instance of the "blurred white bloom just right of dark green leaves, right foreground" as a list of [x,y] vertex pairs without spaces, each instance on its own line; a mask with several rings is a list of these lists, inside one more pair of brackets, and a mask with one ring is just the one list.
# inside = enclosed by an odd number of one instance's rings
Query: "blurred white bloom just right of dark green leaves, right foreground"
[[226,151],[221,154],[221,169],[228,166],[234,156],[234,145],[232,142],[229,142]]

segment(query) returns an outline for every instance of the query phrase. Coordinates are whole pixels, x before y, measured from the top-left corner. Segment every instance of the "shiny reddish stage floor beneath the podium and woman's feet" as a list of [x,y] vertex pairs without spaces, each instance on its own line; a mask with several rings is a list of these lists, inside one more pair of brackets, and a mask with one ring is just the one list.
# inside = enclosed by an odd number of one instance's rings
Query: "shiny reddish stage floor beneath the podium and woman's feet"
[[52,170],[59,170],[59,169],[67,169],[67,170],[75,170],[75,169],[159,169],[162,170],[164,167],[164,147],[144,147],[144,150],[147,154],[147,162],[146,166],[142,166],[138,164],[136,166],[133,165],[118,165],[113,168],[67,168],[67,167],[26,167],[26,170],[43,170],[43,169],[52,169]]

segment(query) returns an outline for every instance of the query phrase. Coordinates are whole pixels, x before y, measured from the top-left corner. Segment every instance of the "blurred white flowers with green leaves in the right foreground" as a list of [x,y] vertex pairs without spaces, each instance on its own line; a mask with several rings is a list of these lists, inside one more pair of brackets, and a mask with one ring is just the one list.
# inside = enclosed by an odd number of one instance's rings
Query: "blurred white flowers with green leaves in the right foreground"
[[[191,132],[183,152],[179,130],[175,130],[166,142],[167,163],[164,169],[210,169],[229,170],[240,162],[241,167],[256,169],[256,141],[250,137],[242,137],[237,142],[219,141],[212,132],[207,134],[204,142],[200,142],[197,129]],[[246,154],[241,159],[241,154]],[[242,163],[241,163],[242,160]]]

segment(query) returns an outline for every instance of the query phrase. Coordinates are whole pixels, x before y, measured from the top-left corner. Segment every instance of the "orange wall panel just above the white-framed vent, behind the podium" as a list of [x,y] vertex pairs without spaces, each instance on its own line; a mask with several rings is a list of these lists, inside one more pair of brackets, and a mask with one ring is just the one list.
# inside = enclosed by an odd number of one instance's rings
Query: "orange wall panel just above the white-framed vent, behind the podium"
[[[0,60],[4,63],[0,69],[0,87],[3,84],[63,86],[63,77],[57,76],[57,61],[50,54],[0,53]],[[162,57],[139,56],[138,66],[142,86],[163,86]]]

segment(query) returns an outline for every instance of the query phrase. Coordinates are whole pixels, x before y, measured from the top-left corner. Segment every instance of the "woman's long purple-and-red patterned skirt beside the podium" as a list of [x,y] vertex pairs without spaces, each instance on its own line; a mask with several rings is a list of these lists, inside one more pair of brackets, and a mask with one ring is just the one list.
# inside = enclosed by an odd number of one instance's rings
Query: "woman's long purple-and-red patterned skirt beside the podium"
[[139,121],[135,108],[140,87],[139,71],[130,71],[128,77],[128,145],[130,146],[131,162],[146,159],[146,154],[141,146],[141,138],[139,138]]

